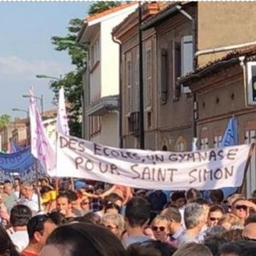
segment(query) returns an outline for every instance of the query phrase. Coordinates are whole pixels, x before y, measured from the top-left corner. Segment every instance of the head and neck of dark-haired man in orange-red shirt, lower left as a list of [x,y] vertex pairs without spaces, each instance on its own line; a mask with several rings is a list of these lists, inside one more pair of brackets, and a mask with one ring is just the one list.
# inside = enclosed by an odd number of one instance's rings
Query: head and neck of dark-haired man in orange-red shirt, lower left
[[47,215],[32,217],[27,224],[29,244],[22,251],[22,256],[39,256],[43,245],[46,244],[46,239],[56,227],[56,224]]

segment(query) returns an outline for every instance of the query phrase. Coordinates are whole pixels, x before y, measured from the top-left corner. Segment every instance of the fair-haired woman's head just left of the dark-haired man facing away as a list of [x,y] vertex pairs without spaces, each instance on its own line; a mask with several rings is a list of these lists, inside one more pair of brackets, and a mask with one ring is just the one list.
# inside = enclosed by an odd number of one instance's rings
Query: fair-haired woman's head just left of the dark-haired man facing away
[[113,234],[121,238],[121,234],[125,229],[123,216],[119,214],[106,213],[103,215],[101,224],[107,227]]

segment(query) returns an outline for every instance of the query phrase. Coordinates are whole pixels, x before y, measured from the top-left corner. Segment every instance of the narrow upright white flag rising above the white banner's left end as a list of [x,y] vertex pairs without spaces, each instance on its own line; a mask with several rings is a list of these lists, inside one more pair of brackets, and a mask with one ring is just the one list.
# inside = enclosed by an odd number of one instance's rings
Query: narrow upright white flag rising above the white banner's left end
[[59,107],[57,116],[57,130],[62,135],[69,136],[69,126],[67,123],[67,113],[65,106],[64,88],[60,88],[59,92]]

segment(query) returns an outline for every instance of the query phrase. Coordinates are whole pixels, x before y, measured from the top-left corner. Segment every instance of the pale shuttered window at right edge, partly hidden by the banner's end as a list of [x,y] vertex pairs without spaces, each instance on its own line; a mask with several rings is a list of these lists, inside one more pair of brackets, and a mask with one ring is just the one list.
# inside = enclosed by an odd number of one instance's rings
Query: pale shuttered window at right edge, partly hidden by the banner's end
[[[245,132],[245,144],[255,143],[255,130],[247,130]],[[246,174],[246,195],[250,196],[252,191],[256,189],[256,157],[255,157],[255,149],[252,153],[252,157],[250,159],[250,164],[248,166],[247,174]]]

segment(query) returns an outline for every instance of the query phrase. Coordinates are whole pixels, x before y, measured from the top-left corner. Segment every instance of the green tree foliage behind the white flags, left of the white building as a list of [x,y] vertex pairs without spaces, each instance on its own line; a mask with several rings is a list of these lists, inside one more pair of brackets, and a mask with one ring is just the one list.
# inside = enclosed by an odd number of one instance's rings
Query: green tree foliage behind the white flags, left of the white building
[[64,87],[70,133],[76,137],[81,137],[82,74],[84,67],[86,67],[88,53],[88,45],[76,43],[76,36],[82,25],[83,20],[72,19],[67,27],[68,33],[66,36],[53,36],[51,39],[55,50],[67,51],[74,65],[74,70],[62,76],[60,81],[50,81],[50,88],[55,93],[53,102],[57,104],[60,87]]

